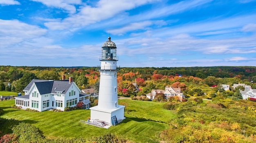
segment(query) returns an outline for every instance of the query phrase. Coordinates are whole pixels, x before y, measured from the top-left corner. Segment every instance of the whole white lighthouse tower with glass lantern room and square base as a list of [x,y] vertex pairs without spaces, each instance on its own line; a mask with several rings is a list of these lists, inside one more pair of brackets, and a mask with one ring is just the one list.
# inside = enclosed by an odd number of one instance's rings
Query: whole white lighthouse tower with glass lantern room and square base
[[125,119],[124,107],[117,101],[117,46],[108,37],[101,50],[98,106],[91,107],[91,120],[115,125]]

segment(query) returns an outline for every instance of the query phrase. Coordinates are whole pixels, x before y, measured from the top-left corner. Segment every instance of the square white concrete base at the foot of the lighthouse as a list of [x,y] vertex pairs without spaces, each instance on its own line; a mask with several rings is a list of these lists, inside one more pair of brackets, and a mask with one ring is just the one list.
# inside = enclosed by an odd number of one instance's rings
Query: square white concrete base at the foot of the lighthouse
[[118,105],[115,109],[101,109],[98,106],[91,107],[91,120],[106,121],[114,125],[112,117],[116,116],[118,123],[120,123],[125,119],[124,107],[122,105]]

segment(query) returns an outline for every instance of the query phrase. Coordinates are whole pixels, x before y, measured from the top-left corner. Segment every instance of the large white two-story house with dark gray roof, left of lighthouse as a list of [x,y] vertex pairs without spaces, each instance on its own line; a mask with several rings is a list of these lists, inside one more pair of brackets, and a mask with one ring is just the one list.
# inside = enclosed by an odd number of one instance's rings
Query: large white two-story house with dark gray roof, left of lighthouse
[[23,109],[30,108],[38,111],[58,109],[64,111],[65,107],[74,107],[83,101],[85,108],[89,109],[90,95],[81,94],[73,77],[65,80],[40,80],[33,79],[25,88],[25,95],[15,97],[16,106]]

